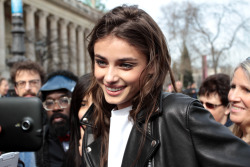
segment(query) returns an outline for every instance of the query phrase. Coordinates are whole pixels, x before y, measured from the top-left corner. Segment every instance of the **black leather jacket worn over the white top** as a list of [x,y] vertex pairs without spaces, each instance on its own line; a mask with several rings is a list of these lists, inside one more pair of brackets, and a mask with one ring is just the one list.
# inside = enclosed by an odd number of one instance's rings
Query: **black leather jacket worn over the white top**
[[[182,94],[162,94],[159,104],[136,167],[250,167],[250,147],[217,123],[198,100]],[[91,134],[91,110],[83,119],[87,125],[83,161],[86,166],[98,167],[101,139],[94,140]],[[130,167],[136,159],[141,135],[134,126],[122,167]]]

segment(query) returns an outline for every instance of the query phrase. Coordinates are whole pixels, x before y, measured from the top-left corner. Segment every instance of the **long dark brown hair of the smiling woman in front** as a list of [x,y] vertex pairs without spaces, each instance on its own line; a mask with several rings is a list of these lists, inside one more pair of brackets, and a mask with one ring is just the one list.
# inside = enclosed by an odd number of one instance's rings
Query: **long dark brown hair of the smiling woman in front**
[[[170,68],[171,58],[164,34],[156,22],[137,6],[123,5],[114,8],[99,20],[90,33],[88,52],[92,60],[93,71],[95,64],[94,45],[98,40],[109,35],[125,40],[145,55],[147,59],[147,66],[140,77],[140,90],[133,98],[133,107],[130,112],[130,117],[136,123],[139,119],[137,118],[138,113],[141,109],[146,108],[144,115],[146,116],[145,125],[147,125],[150,116],[157,110],[157,97],[161,93],[168,72],[170,72],[171,81],[174,83]],[[150,71],[153,71],[153,74]],[[109,119],[115,105],[105,101],[103,91],[94,76],[90,91],[95,105],[93,122],[97,127],[93,131],[95,137],[102,137],[100,166],[104,167],[108,159]],[[145,127],[144,134],[146,133]]]

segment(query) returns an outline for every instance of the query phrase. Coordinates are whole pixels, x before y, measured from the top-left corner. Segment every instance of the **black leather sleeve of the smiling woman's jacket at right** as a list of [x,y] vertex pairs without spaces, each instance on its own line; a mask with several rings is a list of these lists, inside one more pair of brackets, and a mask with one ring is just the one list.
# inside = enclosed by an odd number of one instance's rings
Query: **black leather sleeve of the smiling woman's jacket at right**
[[222,124],[198,101],[188,105],[186,126],[200,166],[250,166],[250,147]]

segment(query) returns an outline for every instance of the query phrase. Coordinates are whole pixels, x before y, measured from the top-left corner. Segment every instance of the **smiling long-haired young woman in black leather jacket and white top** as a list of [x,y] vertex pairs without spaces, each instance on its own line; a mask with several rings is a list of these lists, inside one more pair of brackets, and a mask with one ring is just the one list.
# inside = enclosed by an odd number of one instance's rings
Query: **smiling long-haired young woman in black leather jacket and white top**
[[194,98],[163,92],[171,70],[159,26],[137,6],[118,6],[89,36],[93,107],[82,123],[92,167],[249,167],[250,146]]

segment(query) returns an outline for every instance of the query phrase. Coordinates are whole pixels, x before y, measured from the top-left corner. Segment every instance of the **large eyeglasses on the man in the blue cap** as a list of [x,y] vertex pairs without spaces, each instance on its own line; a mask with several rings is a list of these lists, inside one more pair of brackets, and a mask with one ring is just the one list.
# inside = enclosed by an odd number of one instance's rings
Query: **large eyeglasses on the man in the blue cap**
[[47,111],[51,111],[54,109],[55,104],[57,103],[60,109],[67,108],[70,104],[71,98],[69,97],[61,97],[58,100],[47,99],[43,102],[43,107]]

